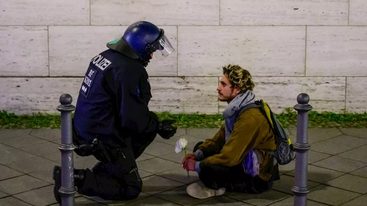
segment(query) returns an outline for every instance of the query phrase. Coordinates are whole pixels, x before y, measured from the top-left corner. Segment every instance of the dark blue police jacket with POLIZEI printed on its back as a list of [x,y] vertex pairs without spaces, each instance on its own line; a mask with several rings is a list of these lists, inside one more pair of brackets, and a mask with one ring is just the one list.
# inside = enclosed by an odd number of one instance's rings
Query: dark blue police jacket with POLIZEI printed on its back
[[74,124],[80,143],[95,137],[119,144],[127,136],[155,132],[148,73],[135,59],[108,49],[89,64],[80,87]]

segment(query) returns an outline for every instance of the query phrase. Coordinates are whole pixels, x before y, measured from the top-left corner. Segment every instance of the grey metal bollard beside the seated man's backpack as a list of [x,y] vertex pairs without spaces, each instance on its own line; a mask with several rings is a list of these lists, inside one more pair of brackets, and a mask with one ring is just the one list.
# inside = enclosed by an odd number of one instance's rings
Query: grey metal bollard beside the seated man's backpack
[[310,97],[306,93],[300,93],[297,96],[297,102],[293,108],[297,110],[297,141],[294,144],[296,151],[295,180],[292,191],[294,194],[294,206],[307,206],[307,187],[308,174],[308,112],[312,106],[308,104]]

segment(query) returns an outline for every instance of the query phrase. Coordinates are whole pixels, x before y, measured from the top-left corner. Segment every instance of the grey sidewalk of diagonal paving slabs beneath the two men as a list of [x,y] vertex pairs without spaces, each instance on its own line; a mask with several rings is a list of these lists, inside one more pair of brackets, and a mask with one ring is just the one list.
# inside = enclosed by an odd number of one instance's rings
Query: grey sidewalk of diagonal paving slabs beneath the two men
[[[175,142],[185,137],[192,150],[217,130],[179,129],[170,140],[157,136],[137,160],[143,178],[143,192],[137,199],[116,202],[76,195],[76,205],[292,206],[294,162],[280,166],[281,180],[273,190],[260,195],[226,192],[215,198],[195,199],[186,194],[187,185],[198,177],[195,172],[188,177],[181,168],[184,154],[175,153]],[[295,143],[296,128],[287,131]],[[367,128],[309,129],[309,143],[308,206],[367,205]],[[0,130],[1,206],[58,206],[52,194],[52,168],[61,163],[59,144],[59,129]],[[93,157],[74,153],[77,169],[92,168],[96,162]]]

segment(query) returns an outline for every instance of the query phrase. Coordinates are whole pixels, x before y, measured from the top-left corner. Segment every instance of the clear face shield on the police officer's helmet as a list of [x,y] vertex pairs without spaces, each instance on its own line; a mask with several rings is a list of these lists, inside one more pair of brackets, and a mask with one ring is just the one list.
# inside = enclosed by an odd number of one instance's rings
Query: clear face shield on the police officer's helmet
[[161,29],[161,31],[162,37],[149,46],[150,51],[153,52],[154,56],[158,60],[166,59],[169,55],[176,52],[176,49],[172,47],[170,40],[168,40],[168,38],[164,34],[163,29]]

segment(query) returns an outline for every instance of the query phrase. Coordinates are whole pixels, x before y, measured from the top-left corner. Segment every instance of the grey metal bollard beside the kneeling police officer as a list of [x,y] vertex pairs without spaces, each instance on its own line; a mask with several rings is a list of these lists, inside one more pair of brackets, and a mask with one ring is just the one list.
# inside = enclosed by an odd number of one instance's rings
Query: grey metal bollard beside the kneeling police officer
[[60,96],[60,103],[57,107],[61,111],[61,144],[58,147],[61,151],[61,194],[62,206],[75,206],[75,193],[77,189],[74,183],[74,159],[73,151],[75,145],[72,137],[72,111],[75,106],[71,103],[73,98],[69,94]]

